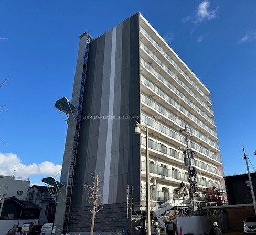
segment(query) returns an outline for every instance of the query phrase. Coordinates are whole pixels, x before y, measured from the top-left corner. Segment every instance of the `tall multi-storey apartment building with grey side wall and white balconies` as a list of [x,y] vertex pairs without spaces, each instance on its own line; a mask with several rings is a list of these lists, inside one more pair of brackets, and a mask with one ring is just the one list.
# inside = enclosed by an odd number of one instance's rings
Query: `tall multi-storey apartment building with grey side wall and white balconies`
[[149,129],[152,210],[188,179],[186,140],[177,131],[185,126],[193,135],[189,148],[195,151],[198,191],[215,186],[225,193],[210,92],[140,13],[98,38],[80,37],[67,104],[60,108],[70,114],[60,180],[67,199],[58,198],[57,231],[89,232],[84,185],[98,173],[103,209],[94,231],[122,231],[133,216],[127,216],[127,205],[144,222],[146,139],[143,132],[135,135],[136,122]]

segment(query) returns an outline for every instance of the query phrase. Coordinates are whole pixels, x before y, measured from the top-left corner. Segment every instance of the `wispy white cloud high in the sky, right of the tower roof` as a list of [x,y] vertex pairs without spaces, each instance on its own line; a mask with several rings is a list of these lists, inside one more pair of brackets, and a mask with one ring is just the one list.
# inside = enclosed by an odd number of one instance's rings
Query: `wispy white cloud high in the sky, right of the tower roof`
[[196,14],[194,16],[187,16],[186,18],[182,19],[183,22],[193,20],[195,24],[199,24],[204,20],[212,20],[217,18],[216,13],[218,7],[215,10],[210,10],[210,4],[211,2],[209,0],[202,1],[197,6]]

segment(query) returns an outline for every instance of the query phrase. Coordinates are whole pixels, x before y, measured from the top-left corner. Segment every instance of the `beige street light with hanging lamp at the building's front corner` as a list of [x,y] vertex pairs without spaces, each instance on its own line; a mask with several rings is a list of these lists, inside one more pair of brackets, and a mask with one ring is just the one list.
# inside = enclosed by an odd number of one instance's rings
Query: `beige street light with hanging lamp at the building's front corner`
[[150,220],[150,154],[148,151],[148,126],[143,126],[136,123],[134,126],[135,134],[141,134],[142,127],[146,131],[146,220],[147,220],[147,235],[151,235],[151,220]]

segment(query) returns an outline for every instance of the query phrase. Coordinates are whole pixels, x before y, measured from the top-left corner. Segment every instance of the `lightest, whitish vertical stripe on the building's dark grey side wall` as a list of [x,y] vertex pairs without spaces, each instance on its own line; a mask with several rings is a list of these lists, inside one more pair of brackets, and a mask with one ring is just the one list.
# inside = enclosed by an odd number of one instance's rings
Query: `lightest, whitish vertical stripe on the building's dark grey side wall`
[[[114,88],[115,88],[115,51],[116,51],[116,27],[112,31],[112,48],[111,48],[111,67],[110,67],[110,87],[109,87],[109,113],[108,116],[113,116],[114,109]],[[111,163],[111,148],[112,148],[112,128],[113,119],[108,118],[108,132],[106,134],[106,157],[105,171],[103,182],[103,204],[108,204],[109,201],[109,181],[110,181],[110,163]]]

